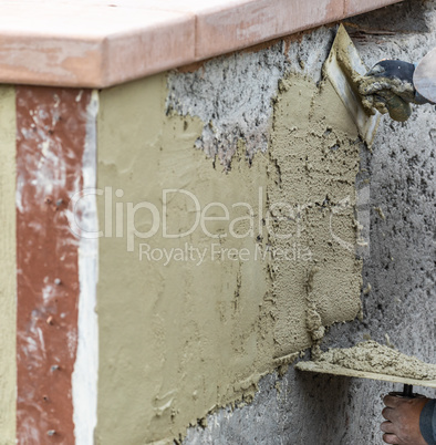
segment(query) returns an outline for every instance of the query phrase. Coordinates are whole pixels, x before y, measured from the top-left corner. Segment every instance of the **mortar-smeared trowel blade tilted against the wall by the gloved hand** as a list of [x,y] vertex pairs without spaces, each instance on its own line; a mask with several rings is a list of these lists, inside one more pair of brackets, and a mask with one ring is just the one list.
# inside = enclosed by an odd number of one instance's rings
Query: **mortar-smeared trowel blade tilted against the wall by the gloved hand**
[[356,80],[367,72],[356,48],[343,24],[339,27],[330,54],[323,66],[324,77],[329,79],[352,115],[359,134],[368,146],[377,131],[381,114],[370,114],[362,105]]

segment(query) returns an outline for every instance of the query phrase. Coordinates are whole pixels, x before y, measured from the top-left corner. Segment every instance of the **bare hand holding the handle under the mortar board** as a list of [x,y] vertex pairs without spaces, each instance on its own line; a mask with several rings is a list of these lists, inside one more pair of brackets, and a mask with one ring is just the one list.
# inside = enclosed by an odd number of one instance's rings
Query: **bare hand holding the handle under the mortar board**
[[395,445],[427,445],[419,430],[419,415],[424,405],[429,401],[426,397],[403,399],[386,395],[383,399],[385,408],[382,415],[386,418],[381,425],[383,442]]

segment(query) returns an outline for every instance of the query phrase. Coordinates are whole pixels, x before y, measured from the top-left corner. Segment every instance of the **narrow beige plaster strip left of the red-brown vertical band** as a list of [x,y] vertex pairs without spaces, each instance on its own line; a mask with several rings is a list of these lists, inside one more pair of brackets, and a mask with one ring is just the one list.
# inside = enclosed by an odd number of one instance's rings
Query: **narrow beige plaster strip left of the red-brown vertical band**
[[0,86],[0,444],[15,443],[15,93]]

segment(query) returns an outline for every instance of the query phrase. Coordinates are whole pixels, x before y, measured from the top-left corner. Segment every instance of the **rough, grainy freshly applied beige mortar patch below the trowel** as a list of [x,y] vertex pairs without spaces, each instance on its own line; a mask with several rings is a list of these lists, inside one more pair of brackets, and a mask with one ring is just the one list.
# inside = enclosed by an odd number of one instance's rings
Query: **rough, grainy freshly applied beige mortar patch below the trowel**
[[278,205],[270,242],[284,251],[297,246],[301,258],[271,265],[276,355],[318,343],[324,325],[352,320],[360,310],[356,141],[356,127],[330,83],[318,89],[299,76],[280,82],[268,198],[283,208]]

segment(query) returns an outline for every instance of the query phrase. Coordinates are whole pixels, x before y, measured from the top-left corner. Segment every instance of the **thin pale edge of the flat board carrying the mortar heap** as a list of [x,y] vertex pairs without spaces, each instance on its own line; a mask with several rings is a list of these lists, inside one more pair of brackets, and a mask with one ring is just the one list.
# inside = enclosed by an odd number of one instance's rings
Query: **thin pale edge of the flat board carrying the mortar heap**
[[343,375],[346,377],[360,377],[360,379],[372,379],[381,380],[384,382],[403,383],[406,385],[426,386],[436,389],[436,380],[417,380],[409,377],[399,377],[397,375],[380,374],[375,372],[350,370],[338,364],[330,364],[322,362],[322,365],[316,362],[299,362],[295,364],[295,369],[300,371],[309,371],[321,374],[330,375]]

